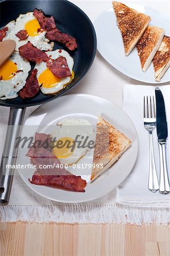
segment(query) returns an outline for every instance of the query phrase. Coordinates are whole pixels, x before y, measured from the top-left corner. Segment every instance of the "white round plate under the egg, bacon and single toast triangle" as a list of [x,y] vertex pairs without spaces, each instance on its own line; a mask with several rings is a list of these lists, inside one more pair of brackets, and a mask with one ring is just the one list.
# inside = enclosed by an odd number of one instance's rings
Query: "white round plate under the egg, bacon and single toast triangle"
[[[35,131],[43,132],[40,127],[56,125],[57,121],[66,117],[88,119],[88,121],[94,124],[97,122],[99,115],[132,141],[131,147],[121,156],[118,162],[93,183],[88,183],[84,193],[31,184],[28,179],[32,178],[34,170],[27,169],[27,171],[24,171],[23,169],[18,169],[20,176],[28,187],[47,199],[63,203],[81,203],[97,199],[109,193],[126,179],[134,167],[137,158],[138,138],[131,119],[121,108],[111,101],[87,94],[63,96],[36,109],[27,119],[24,129],[30,125],[31,127],[34,125]],[[27,148],[19,148],[17,164],[30,163],[30,158],[26,157],[27,151]],[[80,174],[80,170],[78,172]]]

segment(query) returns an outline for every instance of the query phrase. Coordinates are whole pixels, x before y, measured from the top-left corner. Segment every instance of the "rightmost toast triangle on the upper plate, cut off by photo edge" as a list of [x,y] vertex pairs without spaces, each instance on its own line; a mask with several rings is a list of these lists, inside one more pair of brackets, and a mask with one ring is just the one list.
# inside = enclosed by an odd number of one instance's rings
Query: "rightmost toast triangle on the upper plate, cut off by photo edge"
[[163,41],[156,52],[154,60],[155,80],[159,82],[164,73],[170,67],[170,38],[164,36]]

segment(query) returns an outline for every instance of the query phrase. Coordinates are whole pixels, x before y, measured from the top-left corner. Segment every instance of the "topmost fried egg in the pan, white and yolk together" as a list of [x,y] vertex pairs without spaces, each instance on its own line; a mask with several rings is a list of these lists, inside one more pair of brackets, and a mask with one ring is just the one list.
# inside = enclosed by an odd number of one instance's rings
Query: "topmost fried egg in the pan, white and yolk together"
[[[9,31],[7,31],[5,38],[3,40],[7,39],[13,39],[16,42],[16,48],[15,51],[18,51],[18,48],[20,46],[23,46],[28,41],[30,41],[34,46],[36,46],[38,49],[44,50],[44,51],[52,51],[54,43],[49,43],[49,40],[45,38],[45,31],[38,30],[41,28],[40,24],[38,22],[38,19],[35,18],[34,14],[32,12],[26,13],[26,14],[20,14],[19,17],[15,20],[11,21],[6,25],[6,27],[9,28]],[[20,40],[16,34],[20,30],[26,30],[28,34],[28,38],[26,40]]]

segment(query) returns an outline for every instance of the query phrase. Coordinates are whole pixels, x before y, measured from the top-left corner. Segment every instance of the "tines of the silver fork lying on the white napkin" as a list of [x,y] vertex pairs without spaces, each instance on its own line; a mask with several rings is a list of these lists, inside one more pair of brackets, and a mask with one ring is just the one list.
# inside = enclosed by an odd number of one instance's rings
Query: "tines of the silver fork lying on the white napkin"
[[143,117],[156,118],[155,98],[154,96],[144,96]]

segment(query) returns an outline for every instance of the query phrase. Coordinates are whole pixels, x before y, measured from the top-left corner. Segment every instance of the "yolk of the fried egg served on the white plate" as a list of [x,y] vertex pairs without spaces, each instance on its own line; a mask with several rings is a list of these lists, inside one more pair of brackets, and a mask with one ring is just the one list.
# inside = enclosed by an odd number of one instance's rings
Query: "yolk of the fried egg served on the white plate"
[[69,137],[58,139],[54,144],[53,154],[56,158],[68,158],[73,154],[73,151],[71,151],[73,143],[73,139]]

